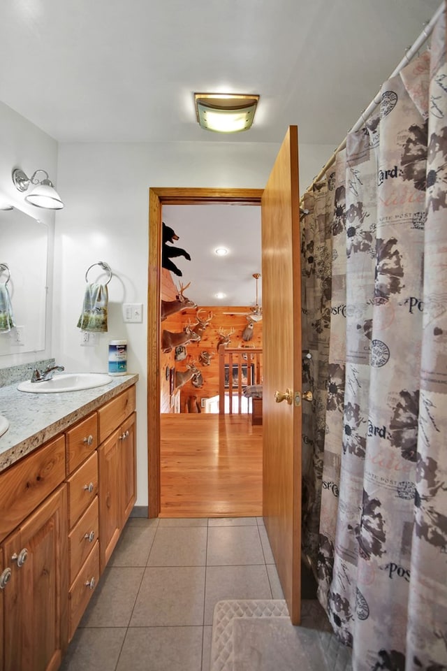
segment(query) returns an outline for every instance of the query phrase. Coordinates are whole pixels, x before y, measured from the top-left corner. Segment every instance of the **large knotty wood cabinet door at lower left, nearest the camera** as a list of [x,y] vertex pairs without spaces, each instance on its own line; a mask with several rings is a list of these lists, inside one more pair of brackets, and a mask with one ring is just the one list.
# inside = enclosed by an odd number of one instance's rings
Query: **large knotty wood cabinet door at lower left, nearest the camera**
[[3,542],[5,671],[55,671],[68,640],[68,512],[61,486]]

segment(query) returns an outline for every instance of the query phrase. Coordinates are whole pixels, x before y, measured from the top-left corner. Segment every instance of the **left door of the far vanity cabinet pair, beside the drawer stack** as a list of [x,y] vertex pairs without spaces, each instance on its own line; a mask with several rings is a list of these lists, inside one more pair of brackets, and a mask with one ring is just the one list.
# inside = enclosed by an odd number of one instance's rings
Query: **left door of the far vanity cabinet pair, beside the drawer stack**
[[121,531],[121,492],[119,491],[120,429],[98,447],[99,557],[101,574],[117,544]]

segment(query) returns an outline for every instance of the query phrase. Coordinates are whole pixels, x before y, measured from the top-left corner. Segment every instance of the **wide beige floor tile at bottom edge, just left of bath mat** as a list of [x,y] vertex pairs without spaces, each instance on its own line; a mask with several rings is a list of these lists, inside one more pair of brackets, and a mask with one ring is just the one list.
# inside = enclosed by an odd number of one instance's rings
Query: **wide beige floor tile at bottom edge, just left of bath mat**
[[117,671],[200,671],[202,627],[130,628]]

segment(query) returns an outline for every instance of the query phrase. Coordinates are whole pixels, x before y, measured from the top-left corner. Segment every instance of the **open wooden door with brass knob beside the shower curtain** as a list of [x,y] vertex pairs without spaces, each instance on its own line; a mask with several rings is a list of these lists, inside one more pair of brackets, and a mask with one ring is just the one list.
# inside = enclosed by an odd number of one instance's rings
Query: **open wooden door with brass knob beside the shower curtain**
[[[261,199],[263,516],[293,624],[300,622],[301,269],[298,129],[288,129]],[[291,404],[275,392],[291,392]]]

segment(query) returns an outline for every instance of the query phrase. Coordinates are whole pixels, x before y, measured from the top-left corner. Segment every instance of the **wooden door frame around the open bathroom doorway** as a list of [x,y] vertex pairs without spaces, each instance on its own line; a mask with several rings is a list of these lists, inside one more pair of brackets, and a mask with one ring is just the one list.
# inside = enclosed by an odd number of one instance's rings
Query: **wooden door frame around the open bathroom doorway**
[[261,205],[263,189],[149,188],[147,288],[147,468],[148,517],[160,513],[160,279],[163,205]]

